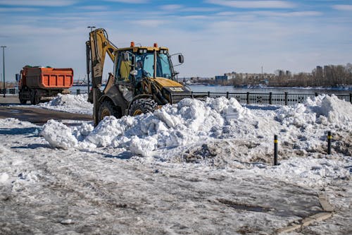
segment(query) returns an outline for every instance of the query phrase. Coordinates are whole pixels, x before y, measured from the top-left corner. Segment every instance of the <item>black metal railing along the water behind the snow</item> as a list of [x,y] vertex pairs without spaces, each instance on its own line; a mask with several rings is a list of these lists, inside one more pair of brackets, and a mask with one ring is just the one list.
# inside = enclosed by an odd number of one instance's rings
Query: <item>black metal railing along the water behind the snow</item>
[[[6,89],[6,94],[18,95],[18,89]],[[72,95],[87,94],[87,89],[84,90],[70,90]],[[4,89],[1,89],[1,94],[4,94]],[[308,97],[318,96],[318,93],[314,94],[291,94],[289,92],[284,93],[237,93],[237,92],[193,92],[194,97],[226,97],[227,99],[235,98],[241,104],[275,104],[275,105],[292,105],[303,103]],[[337,95],[339,99],[351,102],[352,104],[352,93],[346,95]]]

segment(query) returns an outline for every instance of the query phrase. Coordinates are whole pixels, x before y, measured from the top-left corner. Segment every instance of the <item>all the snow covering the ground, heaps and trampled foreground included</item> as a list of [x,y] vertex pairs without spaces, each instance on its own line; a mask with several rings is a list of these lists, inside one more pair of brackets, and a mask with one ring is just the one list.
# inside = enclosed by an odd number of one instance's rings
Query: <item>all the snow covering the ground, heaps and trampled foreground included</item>
[[[43,106],[75,112],[81,98]],[[334,95],[292,107],[185,99],[153,114],[108,116],[95,128],[0,119],[1,200],[26,195],[18,210],[39,209],[25,217],[63,208],[44,215],[58,234],[273,234],[321,212],[318,193],[325,193],[336,215],[293,234],[348,234],[351,123],[352,104]],[[11,209],[6,204],[4,217]],[[16,222],[7,227],[25,231]]]

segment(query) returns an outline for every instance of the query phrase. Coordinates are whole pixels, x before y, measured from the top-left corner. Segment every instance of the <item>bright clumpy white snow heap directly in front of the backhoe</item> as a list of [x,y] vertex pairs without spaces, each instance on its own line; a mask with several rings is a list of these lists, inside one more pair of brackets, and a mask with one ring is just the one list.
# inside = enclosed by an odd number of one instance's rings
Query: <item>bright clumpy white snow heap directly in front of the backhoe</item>
[[249,109],[241,107],[235,99],[221,97],[206,102],[184,99],[175,105],[165,105],[153,114],[121,119],[108,116],[94,130],[84,124],[71,133],[69,128],[63,130],[64,125],[51,120],[44,126],[42,135],[54,147],[126,147],[135,154],[149,155],[157,148],[218,138],[230,121],[249,116],[253,117]]

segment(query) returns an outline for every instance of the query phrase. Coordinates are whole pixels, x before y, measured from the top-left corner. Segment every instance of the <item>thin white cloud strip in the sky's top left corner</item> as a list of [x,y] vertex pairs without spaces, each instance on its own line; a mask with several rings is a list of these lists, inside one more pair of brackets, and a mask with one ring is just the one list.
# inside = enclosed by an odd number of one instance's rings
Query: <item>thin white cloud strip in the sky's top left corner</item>
[[74,0],[0,0],[0,5],[7,6],[70,6]]

